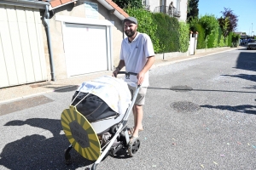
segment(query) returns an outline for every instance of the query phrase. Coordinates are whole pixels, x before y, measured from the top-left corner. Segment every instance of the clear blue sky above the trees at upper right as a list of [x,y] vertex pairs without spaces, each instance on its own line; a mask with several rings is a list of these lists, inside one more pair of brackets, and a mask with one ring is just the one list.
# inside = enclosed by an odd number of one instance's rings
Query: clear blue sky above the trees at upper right
[[[238,26],[236,31],[247,32],[256,35],[256,0],[199,0],[199,16],[214,14],[221,17],[224,8],[230,8],[238,16]],[[253,25],[252,25],[253,23]]]

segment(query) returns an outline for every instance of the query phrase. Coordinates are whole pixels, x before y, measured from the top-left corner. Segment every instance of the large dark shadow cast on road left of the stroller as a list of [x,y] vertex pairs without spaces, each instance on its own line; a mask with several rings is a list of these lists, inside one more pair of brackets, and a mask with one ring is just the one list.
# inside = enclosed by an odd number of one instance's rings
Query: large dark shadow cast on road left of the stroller
[[[84,159],[75,150],[71,150],[73,164],[67,166],[64,159],[64,150],[69,142],[61,132],[61,121],[55,119],[33,118],[26,121],[11,121],[4,126],[23,125],[40,127],[53,133],[52,138],[33,134],[6,144],[0,154],[0,165],[9,169],[76,169],[93,163]],[[12,135],[12,134],[10,134]]]

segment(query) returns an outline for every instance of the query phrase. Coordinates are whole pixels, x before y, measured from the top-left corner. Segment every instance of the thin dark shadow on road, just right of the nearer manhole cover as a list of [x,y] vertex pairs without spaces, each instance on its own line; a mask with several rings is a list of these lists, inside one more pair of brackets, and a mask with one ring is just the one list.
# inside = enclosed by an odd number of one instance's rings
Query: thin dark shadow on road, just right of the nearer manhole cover
[[247,114],[254,114],[256,115],[256,106],[255,105],[201,105],[201,107],[206,107],[209,109],[219,109],[219,110],[226,110],[226,111],[236,111],[241,113]]

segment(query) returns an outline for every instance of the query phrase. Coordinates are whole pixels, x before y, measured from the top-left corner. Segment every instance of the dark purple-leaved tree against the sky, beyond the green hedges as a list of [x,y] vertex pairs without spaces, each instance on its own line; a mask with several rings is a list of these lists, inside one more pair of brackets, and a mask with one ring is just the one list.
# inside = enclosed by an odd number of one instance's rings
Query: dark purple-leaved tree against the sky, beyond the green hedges
[[223,16],[218,19],[218,23],[224,32],[224,37],[227,37],[231,31],[236,31],[238,16],[230,8],[224,8],[221,13]]

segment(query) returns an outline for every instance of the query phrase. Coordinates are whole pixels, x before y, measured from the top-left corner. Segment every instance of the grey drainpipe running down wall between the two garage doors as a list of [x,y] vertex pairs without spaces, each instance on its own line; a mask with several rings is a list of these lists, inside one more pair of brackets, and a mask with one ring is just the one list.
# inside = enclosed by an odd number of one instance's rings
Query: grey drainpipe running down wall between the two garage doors
[[48,8],[48,5],[45,6],[44,26],[45,26],[45,30],[46,30],[48,50],[49,50],[50,75],[51,75],[51,80],[55,81],[55,66],[54,66],[54,61],[53,61],[51,38],[50,38],[50,33],[49,33],[49,8]]

